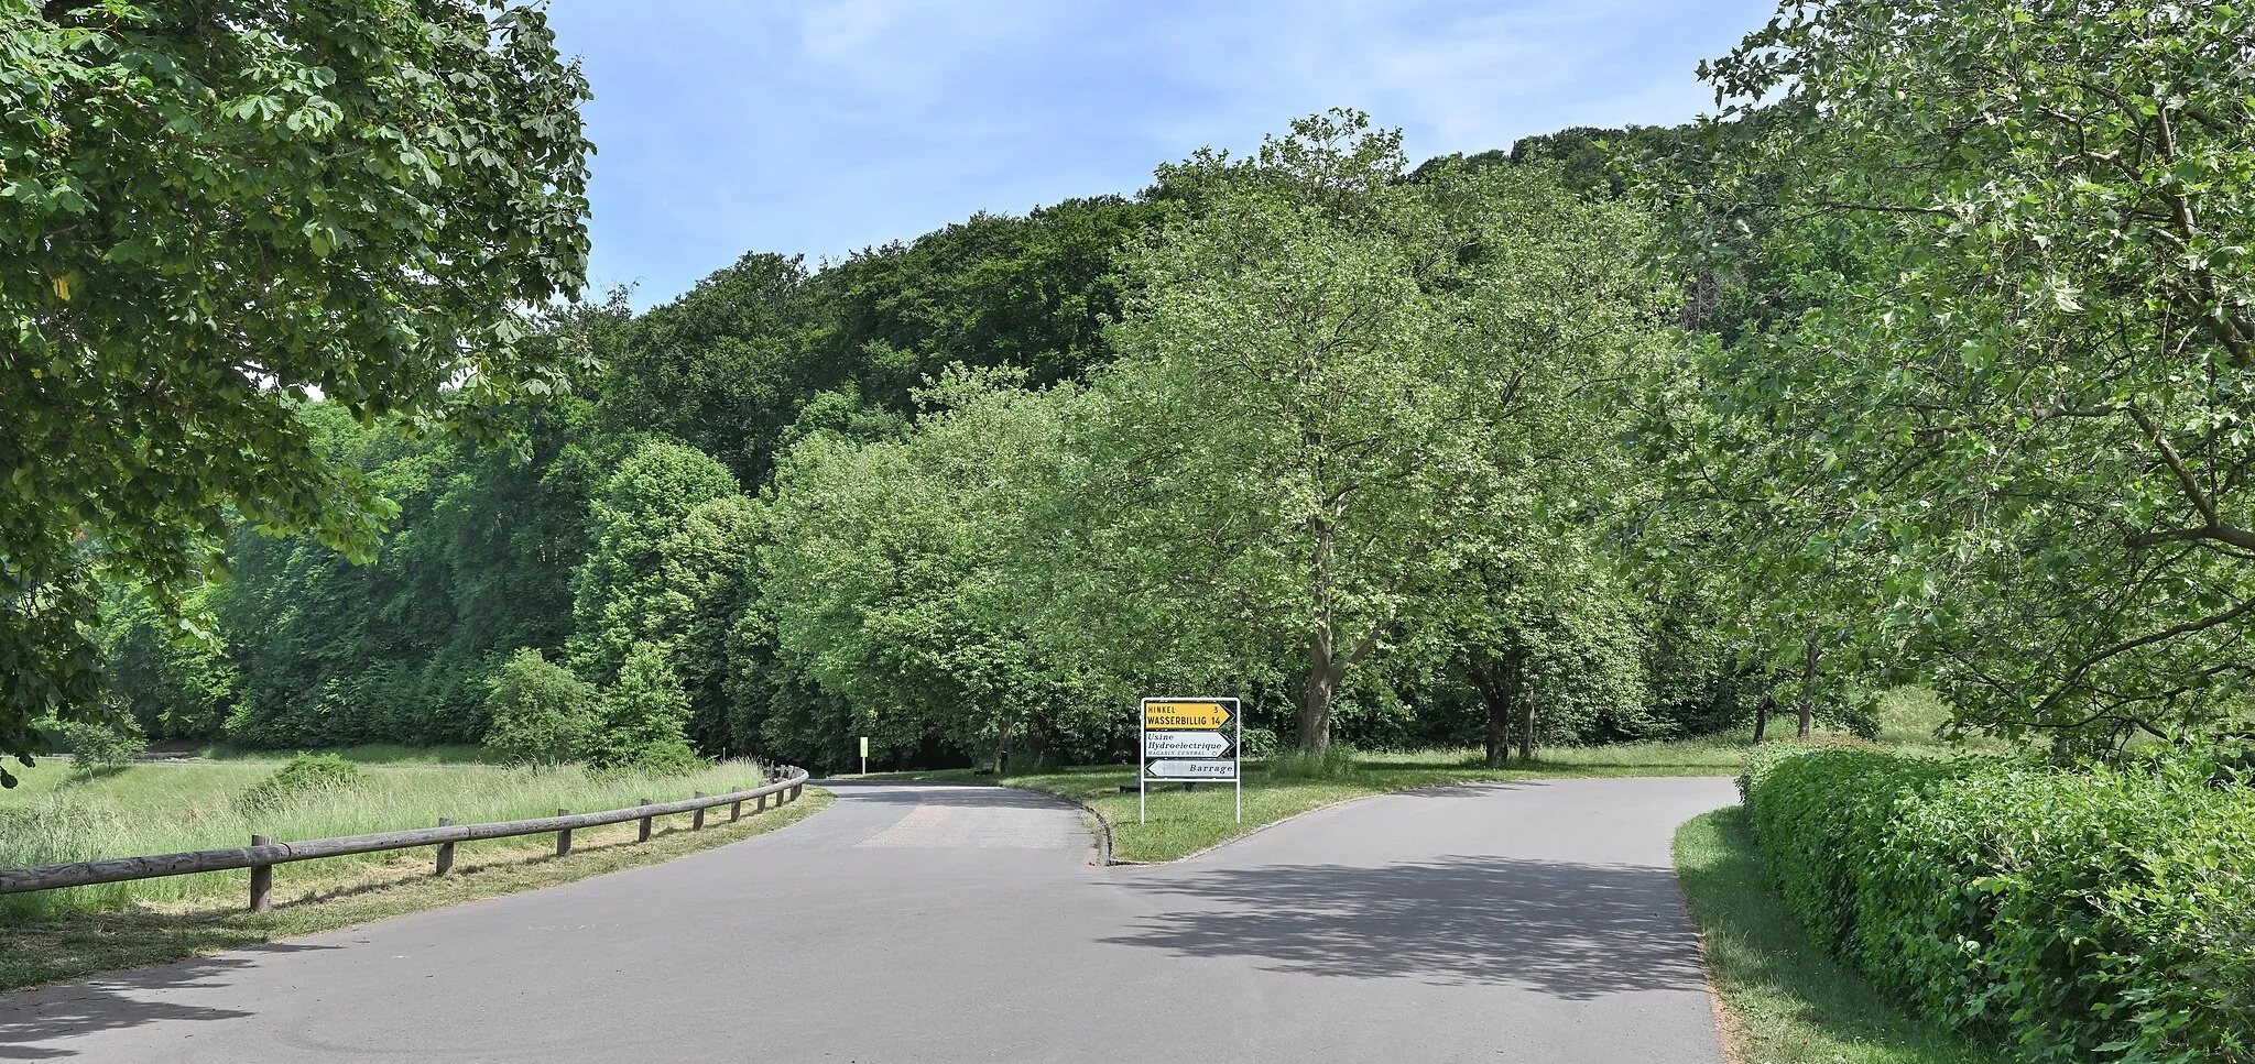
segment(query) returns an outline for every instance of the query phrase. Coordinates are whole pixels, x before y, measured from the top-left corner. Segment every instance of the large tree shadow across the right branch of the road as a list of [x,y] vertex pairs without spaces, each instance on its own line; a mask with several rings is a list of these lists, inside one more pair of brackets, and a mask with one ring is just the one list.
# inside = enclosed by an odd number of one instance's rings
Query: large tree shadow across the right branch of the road
[[1522,985],[1567,1001],[1703,990],[1664,868],[1443,857],[1382,868],[1270,866],[1125,879],[1166,899],[1112,945],[1256,958],[1272,972]]

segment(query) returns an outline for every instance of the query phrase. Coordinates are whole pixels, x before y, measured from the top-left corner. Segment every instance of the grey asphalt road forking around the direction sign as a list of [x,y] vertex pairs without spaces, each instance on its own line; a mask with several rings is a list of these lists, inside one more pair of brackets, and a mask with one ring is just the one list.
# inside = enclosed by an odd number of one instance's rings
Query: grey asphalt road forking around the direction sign
[[0,1059],[1721,1062],[1669,861],[1727,780],[1448,787],[1173,866],[834,784],[665,866],[0,994]]

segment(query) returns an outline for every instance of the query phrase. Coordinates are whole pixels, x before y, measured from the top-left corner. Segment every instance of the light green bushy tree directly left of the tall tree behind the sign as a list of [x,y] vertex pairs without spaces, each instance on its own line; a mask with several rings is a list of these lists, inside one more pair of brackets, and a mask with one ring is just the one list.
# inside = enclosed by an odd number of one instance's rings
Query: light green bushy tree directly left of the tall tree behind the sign
[[954,367],[920,392],[934,408],[909,437],[814,435],[785,455],[760,613],[776,665],[834,701],[776,712],[776,753],[843,764],[870,735],[879,757],[936,739],[1003,760],[1116,737],[1125,692],[1091,690],[1044,631],[1071,624],[1033,606],[1058,552],[1031,516],[1078,392],[1010,388],[1022,376]]

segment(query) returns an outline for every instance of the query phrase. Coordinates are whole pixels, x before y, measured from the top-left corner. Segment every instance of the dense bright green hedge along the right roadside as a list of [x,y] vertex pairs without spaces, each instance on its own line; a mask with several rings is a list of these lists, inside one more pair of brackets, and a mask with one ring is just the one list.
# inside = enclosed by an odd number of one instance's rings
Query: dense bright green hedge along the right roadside
[[1739,789],[1786,904],[1890,994],[2039,1062],[2255,1062],[2255,789],[1766,746]]

